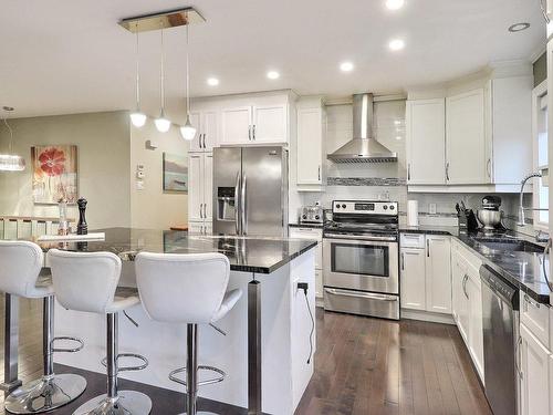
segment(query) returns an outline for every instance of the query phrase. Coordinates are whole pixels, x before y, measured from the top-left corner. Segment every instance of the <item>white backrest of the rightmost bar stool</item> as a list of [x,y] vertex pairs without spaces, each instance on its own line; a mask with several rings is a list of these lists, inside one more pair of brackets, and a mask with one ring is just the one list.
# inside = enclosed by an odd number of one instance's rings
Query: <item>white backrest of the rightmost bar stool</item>
[[135,259],[142,303],[153,320],[208,324],[221,308],[230,264],[222,253],[149,253]]

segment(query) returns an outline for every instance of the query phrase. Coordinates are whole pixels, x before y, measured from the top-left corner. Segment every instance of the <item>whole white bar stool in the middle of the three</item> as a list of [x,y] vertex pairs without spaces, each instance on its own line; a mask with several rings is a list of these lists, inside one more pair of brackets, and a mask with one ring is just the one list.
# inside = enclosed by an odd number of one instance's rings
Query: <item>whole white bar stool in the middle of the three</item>
[[[125,313],[126,309],[140,303],[136,290],[124,289],[116,292],[121,278],[121,259],[111,252],[69,252],[58,249],[51,249],[48,258],[60,304],[67,310],[105,314],[107,319],[107,357],[102,361],[107,369],[107,394],[86,402],[73,414],[149,414],[152,401],[148,396],[117,388],[118,372],[138,371],[148,365],[148,361],[138,354],[118,353],[118,313]],[[123,294],[123,291],[127,292]],[[128,291],[134,291],[134,294]],[[119,367],[118,359],[122,356],[139,359],[143,364]]]

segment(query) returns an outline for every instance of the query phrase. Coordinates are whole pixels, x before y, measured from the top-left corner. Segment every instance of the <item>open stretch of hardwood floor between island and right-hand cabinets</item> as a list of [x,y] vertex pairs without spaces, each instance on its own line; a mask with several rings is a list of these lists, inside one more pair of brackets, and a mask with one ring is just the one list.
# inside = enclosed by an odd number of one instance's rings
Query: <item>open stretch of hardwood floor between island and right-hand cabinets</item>
[[492,414],[453,325],[317,309],[315,374],[296,415]]

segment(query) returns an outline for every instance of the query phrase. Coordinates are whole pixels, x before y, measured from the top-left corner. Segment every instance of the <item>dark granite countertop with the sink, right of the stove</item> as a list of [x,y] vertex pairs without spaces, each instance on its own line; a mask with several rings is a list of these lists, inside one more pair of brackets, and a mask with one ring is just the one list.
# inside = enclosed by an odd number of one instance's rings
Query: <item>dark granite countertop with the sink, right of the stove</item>
[[[534,238],[525,234],[508,230],[499,236],[490,237],[483,232],[460,234],[458,227],[440,226],[401,227],[400,232],[450,235],[462,242],[484,264],[493,269],[508,282],[528,293],[535,301],[544,304],[550,303],[551,291],[543,274],[542,252],[494,250],[482,243],[486,241],[512,242],[513,239],[522,239],[542,248],[544,247],[544,243],[538,243]],[[482,239],[486,239],[486,241],[482,241]]]

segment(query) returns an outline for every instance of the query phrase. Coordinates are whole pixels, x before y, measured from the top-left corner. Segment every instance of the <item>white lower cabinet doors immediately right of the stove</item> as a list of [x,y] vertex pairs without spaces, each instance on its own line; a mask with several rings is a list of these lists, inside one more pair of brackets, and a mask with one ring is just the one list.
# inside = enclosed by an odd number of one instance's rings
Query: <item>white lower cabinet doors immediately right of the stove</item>
[[[401,237],[401,240],[405,241],[406,238]],[[401,308],[449,314],[451,313],[450,238],[427,235],[425,241],[424,248],[401,247]]]

